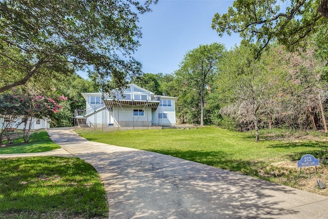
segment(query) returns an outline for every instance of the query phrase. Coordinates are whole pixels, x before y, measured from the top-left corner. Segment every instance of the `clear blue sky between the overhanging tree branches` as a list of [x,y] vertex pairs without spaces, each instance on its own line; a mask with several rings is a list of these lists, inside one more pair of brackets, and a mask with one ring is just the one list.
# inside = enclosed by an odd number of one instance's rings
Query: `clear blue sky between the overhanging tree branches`
[[232,4],[233,0],[159,0],[152,5],[152,12],[139,16],[142,38],[134,57],[142,71],[171,74],[199,45],[218,42],[230,49],[239,44],[237,34],[219,37],[211,28],[214,14],[226,13]]

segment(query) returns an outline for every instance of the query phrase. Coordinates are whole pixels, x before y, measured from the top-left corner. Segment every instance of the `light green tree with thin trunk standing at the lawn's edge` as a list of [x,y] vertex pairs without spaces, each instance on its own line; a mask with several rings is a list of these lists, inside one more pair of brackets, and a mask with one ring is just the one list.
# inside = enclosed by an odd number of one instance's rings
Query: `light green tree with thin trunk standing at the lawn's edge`
[[280,98],[286,75],[280,66],[286,59],[276,47],[254,60],[252,48],[255,45],[243,43],[224,53],[218,64],[216,92],[224,103],[221,114],[231,116],[241,127],[251,129],[254,125],[255,141],[259,141],[258,122],[270,110],[267,107]]

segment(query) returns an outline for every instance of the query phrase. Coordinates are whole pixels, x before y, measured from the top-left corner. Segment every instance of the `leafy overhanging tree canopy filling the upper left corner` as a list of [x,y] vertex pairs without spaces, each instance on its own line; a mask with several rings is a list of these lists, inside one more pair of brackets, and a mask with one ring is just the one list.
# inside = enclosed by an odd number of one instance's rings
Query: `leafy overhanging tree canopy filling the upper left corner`
[[138,13],[153,2],[1,1],[0,92],[31,79],[65,81],[74,70],[88,71],[104,91],[125,85],[141,70],[132,57]]

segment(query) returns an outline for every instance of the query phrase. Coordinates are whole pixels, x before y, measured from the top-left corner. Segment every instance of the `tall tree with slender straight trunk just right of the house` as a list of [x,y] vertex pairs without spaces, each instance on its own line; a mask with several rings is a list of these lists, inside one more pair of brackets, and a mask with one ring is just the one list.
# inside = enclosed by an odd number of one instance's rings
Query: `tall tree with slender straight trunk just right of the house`
[[218,43],[200,45],[183,57],[180,68],[175,73],[176,84],[180,86],[177,101],[180,122],[203,125],[208,89],[212,85],[213,75],[217,72],[217,62],[224,50],[224,46]]

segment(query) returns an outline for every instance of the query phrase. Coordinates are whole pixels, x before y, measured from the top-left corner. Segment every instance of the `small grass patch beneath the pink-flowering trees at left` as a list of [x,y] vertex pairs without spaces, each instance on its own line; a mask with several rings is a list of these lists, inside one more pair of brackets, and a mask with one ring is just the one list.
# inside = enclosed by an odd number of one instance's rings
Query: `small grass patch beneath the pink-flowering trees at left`
[[0,154],[44,152],[59,148],[59,145],[50,140],[45,130],[40,130],[31,134],[29,143],[24,143],[23,137],[19,137],[14,144],[2,145]]

